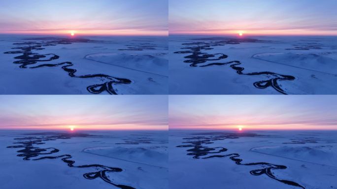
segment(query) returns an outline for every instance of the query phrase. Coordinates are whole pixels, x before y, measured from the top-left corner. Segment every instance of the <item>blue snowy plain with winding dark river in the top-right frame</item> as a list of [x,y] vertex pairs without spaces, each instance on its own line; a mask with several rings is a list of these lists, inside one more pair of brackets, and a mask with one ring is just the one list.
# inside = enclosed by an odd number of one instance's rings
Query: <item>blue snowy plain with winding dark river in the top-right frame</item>
[[170,94],[337,94],[336,36],[169,36]]

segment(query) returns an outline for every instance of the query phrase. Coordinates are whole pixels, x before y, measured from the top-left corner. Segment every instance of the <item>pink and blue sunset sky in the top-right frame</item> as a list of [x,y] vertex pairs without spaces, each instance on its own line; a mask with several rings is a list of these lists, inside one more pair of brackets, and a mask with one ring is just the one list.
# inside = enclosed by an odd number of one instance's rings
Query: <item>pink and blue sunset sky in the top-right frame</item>
[[170,34],[337,35],[337,0],[169,0]]

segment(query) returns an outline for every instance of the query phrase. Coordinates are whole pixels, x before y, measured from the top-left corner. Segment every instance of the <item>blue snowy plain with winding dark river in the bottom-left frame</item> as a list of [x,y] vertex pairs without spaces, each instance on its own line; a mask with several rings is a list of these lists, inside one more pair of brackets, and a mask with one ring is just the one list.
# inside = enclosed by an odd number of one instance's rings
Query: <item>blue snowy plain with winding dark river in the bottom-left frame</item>
[[[41,139],[44,141],[39,142]],[[13,147],[20,145],[34,148],[28,153],[23,147]],[[168,189],[169,186],[168,131],[1,130],[0,154],[1,189]],[[34,160],[37,158],[41,159]]]

